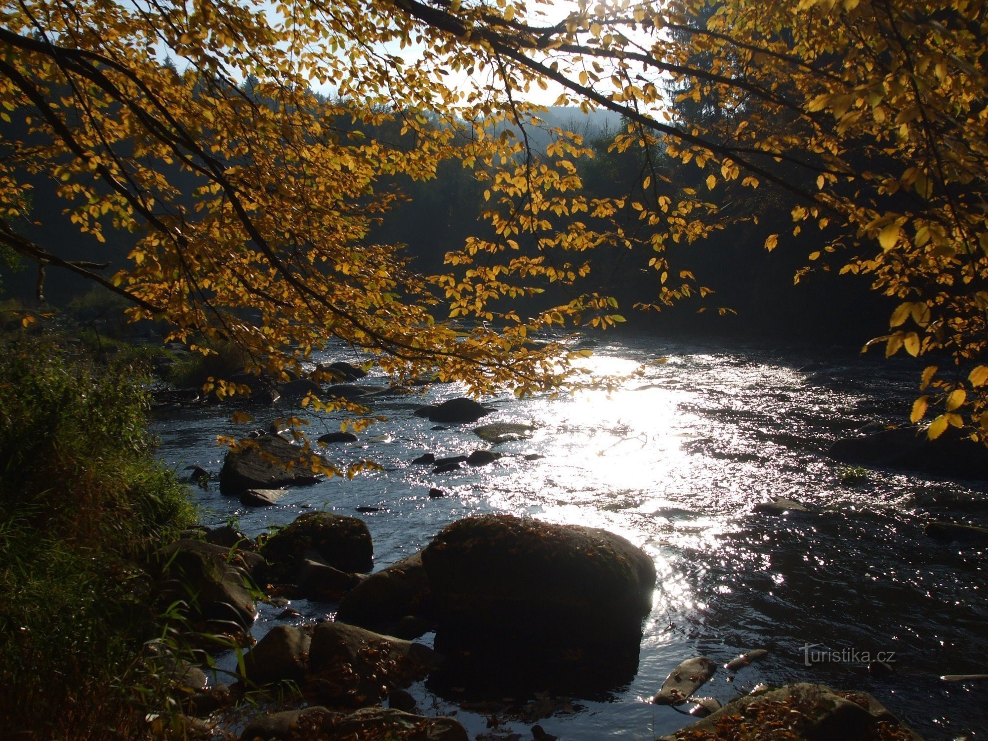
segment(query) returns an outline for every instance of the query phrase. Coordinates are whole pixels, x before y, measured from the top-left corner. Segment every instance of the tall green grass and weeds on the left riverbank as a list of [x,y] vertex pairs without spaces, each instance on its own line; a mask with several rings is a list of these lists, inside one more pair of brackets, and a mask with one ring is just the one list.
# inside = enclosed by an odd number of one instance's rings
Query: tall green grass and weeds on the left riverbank
[[195,520],[153,456],[145,383],[0,335],[0,728],[5,738],[133,738],[160,703],[148,546]]

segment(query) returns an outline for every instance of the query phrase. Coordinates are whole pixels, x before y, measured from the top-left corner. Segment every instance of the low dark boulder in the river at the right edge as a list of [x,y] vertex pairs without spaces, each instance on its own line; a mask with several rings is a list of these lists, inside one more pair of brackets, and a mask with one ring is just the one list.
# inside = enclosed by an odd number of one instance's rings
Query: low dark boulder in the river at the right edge
[[842,463],[901,468],[951,478],[988,479],[988,449],[949,428],[937,440],[916,425],[843,438],[827,454]]

